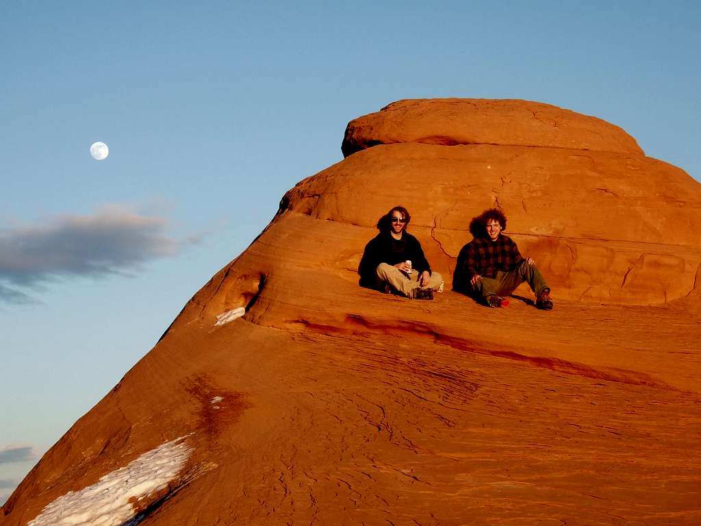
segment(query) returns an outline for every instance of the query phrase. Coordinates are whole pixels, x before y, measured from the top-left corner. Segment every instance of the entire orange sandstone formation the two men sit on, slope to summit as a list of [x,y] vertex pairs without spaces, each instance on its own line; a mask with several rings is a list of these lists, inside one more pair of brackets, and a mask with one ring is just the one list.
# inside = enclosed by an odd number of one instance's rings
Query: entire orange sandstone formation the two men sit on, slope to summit
[[[700,523],[701,185],[620,128],[525,101],[397,102],[349,123],[343,151],[0,524],[41,524],[178,438],[182,471],[131,501],[144,525]],[[470,219],[501,206],[554,311],[359,288],[397,203],[447,281]]]

